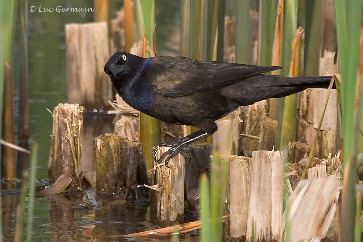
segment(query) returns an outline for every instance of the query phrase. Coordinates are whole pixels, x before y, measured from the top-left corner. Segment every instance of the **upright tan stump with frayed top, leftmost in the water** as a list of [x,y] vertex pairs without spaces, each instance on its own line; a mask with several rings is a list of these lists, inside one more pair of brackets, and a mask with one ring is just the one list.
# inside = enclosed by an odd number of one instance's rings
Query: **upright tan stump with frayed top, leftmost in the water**
[[83,107],[60,103],[53,111],[53,134],[48,176],[54,182],[62,175],[74,177],[69,188],[82,189]]

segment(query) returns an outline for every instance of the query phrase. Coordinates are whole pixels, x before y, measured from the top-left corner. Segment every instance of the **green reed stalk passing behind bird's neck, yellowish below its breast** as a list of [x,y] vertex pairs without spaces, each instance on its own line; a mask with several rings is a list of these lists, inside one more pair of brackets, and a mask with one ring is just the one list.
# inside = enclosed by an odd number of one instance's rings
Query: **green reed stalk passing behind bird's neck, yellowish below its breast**
[[[154,49],[153,31],[155,26],[155,1],[154,0],[137,0],[136,22],[138,28],[138,38],[146,38],[150,43],[150,49]],[[146,51],[146,56],[150,57],[150,53]],[[145,151],[146,169],[153,167],[153,158],[151,152],[154,147],[158,146],[161,141],[160,121],[146,114],[140,113],[140,138]]]

